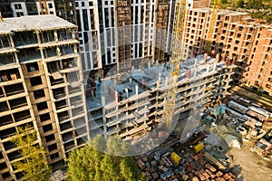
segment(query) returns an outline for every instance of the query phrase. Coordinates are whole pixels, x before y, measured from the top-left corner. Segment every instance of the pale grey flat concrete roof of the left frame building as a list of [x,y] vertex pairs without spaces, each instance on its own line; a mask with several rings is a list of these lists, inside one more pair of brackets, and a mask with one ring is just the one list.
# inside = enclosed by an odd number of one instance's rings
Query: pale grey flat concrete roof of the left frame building
[[25,15],[21,17],[3,18],[3,21],[0,22],[0,34],[74,27],[77,26],[53,14]]

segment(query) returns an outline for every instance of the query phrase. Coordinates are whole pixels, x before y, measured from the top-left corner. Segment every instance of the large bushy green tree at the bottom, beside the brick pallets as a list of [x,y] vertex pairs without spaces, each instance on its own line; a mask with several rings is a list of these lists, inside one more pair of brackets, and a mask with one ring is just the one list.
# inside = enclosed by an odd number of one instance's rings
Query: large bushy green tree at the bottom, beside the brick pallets
[[[105,153],[102,153],[106,152]],[[83,148],[73,149],[69,157],[68,179],[71,181],[144,180],[137,162],[128,155],[131,148],[121,138],[93,138]],[[108,154],[109,153],[109,154]]]

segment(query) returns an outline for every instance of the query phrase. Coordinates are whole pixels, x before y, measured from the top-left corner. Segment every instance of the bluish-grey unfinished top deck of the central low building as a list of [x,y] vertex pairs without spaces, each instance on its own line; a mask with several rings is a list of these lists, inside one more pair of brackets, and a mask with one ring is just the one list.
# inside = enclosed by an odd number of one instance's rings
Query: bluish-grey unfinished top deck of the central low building
[[[203,58],[203,55],[198,55],[196,58],[180,63],[178,84],[203,79],[226,67],[225,62],[216,62],[215,58],[208,56],[207,61],[203,61]],[[156,89],[157,84],[160,90],[166,90],[169,77],[170,63],[151,65],[151,62],[141,70],[133,70],[129,74],[117,74],[107,77],[102,80],[101,85],[97,82],[99,86],[97,86],[96,97],[93,100],[87,99],[88,110],[102,107],[101,96],[105,97],[106,108],[114,108],[118,102],[114,100],[113,92],[118,92],[120,100],[139,100],[148,97],[150,91]],[[138,90],[135,90],[136,85],[138,85]]]

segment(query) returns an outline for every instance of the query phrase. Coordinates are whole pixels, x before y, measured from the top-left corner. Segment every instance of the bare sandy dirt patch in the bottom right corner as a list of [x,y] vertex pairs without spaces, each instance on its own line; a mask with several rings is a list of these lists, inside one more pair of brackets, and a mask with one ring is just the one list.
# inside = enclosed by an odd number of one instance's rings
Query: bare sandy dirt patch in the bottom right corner
[[244,141],[241,149],[232,148],[228,154],[233,156],[232,166],[238,166],[238,181],[270,181],[272,180],[272,161],[259,157],[251,152],[253,143]]

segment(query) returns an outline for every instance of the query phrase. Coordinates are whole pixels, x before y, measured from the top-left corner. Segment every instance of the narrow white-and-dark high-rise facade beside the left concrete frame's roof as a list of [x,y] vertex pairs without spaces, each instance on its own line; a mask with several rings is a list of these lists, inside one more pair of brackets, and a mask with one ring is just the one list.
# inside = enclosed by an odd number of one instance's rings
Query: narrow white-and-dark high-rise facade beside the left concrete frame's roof
[[75,1],[83,71],[85,71],[85,74],[89,74],[89,72],[93,70],[102,75],[102,49],[98,3],[101,3],[101,1]]

